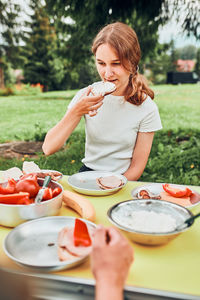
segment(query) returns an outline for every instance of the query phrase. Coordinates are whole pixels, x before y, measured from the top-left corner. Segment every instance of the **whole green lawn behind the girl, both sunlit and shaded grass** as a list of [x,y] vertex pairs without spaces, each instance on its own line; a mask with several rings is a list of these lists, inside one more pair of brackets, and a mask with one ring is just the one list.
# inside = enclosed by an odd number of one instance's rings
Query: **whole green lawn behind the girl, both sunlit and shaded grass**
[[[163,130],[155,135],[141,180],[199,185],[200,85],[159,85],[152,88]],[[62,118],[75,93],[54,91],[0,97],[0,143],[43,140],[46,132]],[[79,170],[83,156],[84,120],[81,120],[61,151],[48,157],[40,153],[35,162],[40,168],[71,175]],[[0,169],[21,167],[22,163],[22,160],[0,158]]]

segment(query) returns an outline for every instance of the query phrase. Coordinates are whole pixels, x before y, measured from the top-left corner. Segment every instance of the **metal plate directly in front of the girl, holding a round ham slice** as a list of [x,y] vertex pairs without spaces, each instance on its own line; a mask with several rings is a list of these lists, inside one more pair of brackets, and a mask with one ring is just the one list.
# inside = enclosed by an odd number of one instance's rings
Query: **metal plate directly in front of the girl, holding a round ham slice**
[[[123,184],[120,187],[114,189],[101,189],[96,183],[96,179],[99,177],[116,176],[122,180]],[[125,176],[112,172],[101,172],[101,171],[86,171],[76,173],[68,177],[68,184],[77,192],[85,195],[93,196],[106,196],[116,193],[123,188],[127,183]]]

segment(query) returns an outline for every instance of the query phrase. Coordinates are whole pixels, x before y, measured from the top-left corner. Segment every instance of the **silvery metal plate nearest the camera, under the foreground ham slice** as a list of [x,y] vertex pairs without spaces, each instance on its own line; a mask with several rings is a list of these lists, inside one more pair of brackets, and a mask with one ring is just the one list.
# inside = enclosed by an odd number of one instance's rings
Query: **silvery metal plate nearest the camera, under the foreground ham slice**
[[[15,263],[38,271],[69,269],[84,262],[88,256],[61,262],[57,254],[59,231],[73,227],[74,217],[45,217],[15,227],[4,240],[4,252]],[[83,219],[82,219],[83,220]],[[83,220],[88,227],[96,228]]]

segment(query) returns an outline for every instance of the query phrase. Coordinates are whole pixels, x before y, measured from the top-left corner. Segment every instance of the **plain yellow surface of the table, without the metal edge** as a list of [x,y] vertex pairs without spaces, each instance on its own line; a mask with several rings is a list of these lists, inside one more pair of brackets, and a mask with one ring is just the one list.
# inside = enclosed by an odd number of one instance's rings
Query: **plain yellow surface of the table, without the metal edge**
[[[64,176],[60,182],[64,189],[72,190]],[[107,211],[115,203],[131,199],[131,191],[142,182],[128,182],[125,188],[118,193],[106,197],[87,196],[96,209],[96,224],[111,226]],[[200,191],[200,187],[194,187]],[[193,213],[200,211],[200,205],[192,208]],[[61,216],[78,215],[64,204],[60,211]],[[24,271],[21,266],[12,262],[3,252],[2,243],[11,229],[0,227],[0,265],[2,267]],[[163,246],[142,246],[131,242],[135,252],[135,261],[130,268],[126,284],[134,287],[185,293],[200,297],[200,221],[186,232]],[[59,272],[54,275],[92,279],[89,260],[82,265]]]

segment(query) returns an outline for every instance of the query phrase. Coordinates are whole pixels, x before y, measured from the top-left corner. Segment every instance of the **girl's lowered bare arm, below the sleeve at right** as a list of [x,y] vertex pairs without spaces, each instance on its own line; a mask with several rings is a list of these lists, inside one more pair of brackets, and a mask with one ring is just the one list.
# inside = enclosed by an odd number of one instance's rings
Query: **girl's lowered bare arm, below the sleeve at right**
[[138,132],[130,167],[123,174],[128,180],[138,180],[142,175],[149,158],[153,137],[154,132]]

